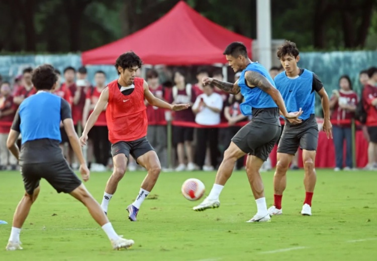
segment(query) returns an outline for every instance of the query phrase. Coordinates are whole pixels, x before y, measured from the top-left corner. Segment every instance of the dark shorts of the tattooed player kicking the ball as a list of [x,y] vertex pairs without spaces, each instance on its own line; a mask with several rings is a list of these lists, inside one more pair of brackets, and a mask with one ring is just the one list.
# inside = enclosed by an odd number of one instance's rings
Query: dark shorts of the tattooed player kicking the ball
[[250,121],[233,137],[241,151],[266,161],[280,137],[281,126]]

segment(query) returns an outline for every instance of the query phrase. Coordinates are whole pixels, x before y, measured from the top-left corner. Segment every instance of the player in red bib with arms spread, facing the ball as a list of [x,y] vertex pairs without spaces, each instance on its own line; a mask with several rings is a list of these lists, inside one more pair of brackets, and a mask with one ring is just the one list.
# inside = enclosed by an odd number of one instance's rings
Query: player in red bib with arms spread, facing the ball
[[126,172],[130,154],[148,171],[135,201],[127,207],[128,218],[131,221],[136,221],[140,205],[153,189],[161,171],[157,154],[146,139],[148,119],[144,98],[152,106],[175,111],[190,107],[190,104],[171,105],[154,97],[146,81],[136,77],[136,71],[141,65],[141,59],[132,51],[118,57],[115,68],[117,68],[119,78],[110,82],[102,91],[80,138],[81,145],[85,145],[88,132],[107,104],[106,120],[109,140],[112,143],[114,171],[106,184],[101,204],[105,213],[108,211],[109,201],[117,190],[119,181]]

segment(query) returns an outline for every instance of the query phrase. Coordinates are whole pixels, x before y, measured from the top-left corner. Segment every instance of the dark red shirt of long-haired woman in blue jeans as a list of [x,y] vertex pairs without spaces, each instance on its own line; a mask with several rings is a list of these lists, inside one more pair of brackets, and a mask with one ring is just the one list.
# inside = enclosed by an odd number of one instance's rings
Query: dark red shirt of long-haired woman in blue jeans
[[[332,99],[334,99],[334,98],[335,98],[335,96],[332,97]],[[357,101],[358,101],[358,98],[357,98],[356,92],[354,92],[352,90],[350,90],[350,91],[339,90],[338,102],[334,106],[333,112],[331,114],[331,119],[333,119],[333,120],[352,119],[355,113],[341,108],[339,106],[339,103],[356,106]],[[334,124],[334,125],[342,126],[342,127],[350,127],[351,123],[349,123],[349,124]]]

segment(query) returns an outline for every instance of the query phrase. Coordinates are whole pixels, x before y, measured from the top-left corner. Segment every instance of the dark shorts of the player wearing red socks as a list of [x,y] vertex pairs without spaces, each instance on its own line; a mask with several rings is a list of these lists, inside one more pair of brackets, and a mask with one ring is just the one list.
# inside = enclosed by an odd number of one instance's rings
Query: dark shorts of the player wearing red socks
[[314,115],[297,125],[286,122],[281,134],[277,153],[295,155],[297,149],[317,151],[318,124]]

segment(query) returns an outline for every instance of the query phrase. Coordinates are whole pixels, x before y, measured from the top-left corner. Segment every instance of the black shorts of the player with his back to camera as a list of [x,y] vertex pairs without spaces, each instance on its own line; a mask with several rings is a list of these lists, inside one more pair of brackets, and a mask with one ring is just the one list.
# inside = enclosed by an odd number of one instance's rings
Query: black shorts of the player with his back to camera
[[26,163],[21,166],[25,190],[32,195],[43,178],[58,192],[70,193],[81,181],[65,160],[45,163]]

